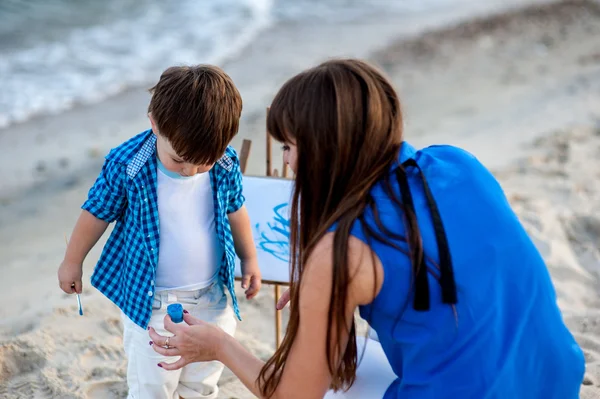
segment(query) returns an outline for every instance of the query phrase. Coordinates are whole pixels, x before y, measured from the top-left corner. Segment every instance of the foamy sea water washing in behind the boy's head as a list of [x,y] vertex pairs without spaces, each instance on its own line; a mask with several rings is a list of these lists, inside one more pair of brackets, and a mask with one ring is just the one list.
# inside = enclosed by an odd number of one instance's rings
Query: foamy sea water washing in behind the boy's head
[[[273,24],[348,22],[476,0],[0,0],[0,128],[222,64]],[[481,0],[479,0],[481,1]]]

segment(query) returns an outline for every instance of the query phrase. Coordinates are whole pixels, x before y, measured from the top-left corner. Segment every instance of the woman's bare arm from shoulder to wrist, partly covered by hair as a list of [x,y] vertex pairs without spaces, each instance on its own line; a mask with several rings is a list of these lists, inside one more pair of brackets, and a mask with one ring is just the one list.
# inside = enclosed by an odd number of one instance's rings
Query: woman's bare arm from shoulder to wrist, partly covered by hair
[[[300,287],[300,326],[274,398],[322,398],[331,384],[326,339],[327,330],[330,328],[327,315],[333,273],[332,249],[333,234],[328,234],[317,245],[304,270]],[[373,260],[376,262],[375,268]],[[373,300],[381,288],[383,275],[381,265],[371,256],[370,249],[353,237],[349,241],[349,267],[354,278],[348,291],[346,320],[351,321],[358,305]],[[343,348],[348,342],[348,335],[334,335],[332,339],[340,340]],[[224,340],[220,346],[222,349],[218,355],[219,360],[236,374],[253,394],[261,397],[256,380],[264,362],[250,354],[235,339],[225,337]]]

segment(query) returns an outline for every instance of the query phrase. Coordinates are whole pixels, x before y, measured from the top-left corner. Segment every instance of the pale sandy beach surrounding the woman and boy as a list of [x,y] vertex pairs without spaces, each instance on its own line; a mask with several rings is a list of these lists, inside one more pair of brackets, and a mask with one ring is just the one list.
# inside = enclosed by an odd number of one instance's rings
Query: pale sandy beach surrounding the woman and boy
[[[353,52],[344,38],[335,54],[385,69],[413,145],[461,146],[498,177],[585,352],[581,398],[600,398],[600,2],[530,3],[418,34],[385,25],[381,45]],[[308,44],[290,49],[332,35],[326,27],[290,32],[274,26],[224,65],[244,96],[234,145],[252,139],[251,174],[264,174],[264,107],[287,77],[314,64],[299,55]],[[334,47],[310,54],[324,59]],[[242,73],[249,69],[256,74]],[[84,317],[59,290],[56,269],[102,156],[147,128],[147,100],[143,89],[129,90],[0,130],[0,398],[126,397],[120,313],[89,284],[102,246],[84,265]],[[273,299],[265,286],[254,301],[241,300],[237,337],[263,358],[274,349]],[[253,396],[226,372],[219,397]]]

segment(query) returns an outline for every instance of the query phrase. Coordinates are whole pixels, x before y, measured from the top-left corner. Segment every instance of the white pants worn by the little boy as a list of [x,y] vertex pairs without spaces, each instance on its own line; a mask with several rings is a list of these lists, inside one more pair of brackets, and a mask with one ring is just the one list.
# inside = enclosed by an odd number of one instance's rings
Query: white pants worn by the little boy
[[[181,303],[192,316],[221,327],[233,335],[236,320],[227,304],[220,283],[196,291],[161,291],[156,293],[149,325],[161,335],[165,330],[164,317],[170,303]],[[219,394],[217,383],[223,372],[220,362],[192,363],[180,370],[167,371],[158,363],[172,363],[179,357],[165,357],[150,346],[148,331],[122,314],[123,345],[127,355],[128,399],[214,399]],[[185,323],[185,322],[184,322]]]

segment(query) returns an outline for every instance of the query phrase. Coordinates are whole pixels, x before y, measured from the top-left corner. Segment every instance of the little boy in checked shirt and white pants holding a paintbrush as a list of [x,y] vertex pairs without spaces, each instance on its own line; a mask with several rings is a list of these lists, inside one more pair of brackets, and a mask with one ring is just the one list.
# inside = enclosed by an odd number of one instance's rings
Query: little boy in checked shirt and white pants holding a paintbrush
[[83,261],[116,221],[92,285],[122,310],[128,397],[216,398],[223,365],[163,370],[158,363],[176,358],[160,357],[152,349],[147,328],[167,333],[167,306],[178,302],[233,335],[233,312],[239,318],[236,254],[246,298],[260,289],[239,160],[228,146],[238,131],[242,99],[225,72],[206,65],[167,69],[151,93],[152,130],[106,156],[58,279],[66,293],[81,293]]

